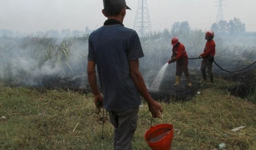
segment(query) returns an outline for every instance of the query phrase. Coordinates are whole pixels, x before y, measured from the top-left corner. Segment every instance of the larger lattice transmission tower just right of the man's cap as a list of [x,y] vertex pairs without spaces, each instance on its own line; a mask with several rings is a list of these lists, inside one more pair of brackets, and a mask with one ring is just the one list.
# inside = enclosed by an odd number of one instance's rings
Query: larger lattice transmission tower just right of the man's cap
[[133,29],[139,36],[143,37],[147,33],[152,33],[147,0],[139,0]]

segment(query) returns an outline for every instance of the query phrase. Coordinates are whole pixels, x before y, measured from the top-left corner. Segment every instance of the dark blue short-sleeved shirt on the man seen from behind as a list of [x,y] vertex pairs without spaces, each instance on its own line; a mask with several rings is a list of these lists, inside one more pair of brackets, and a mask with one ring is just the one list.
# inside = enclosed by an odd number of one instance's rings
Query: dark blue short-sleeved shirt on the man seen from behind
[[136,31],[120,24],[102,26],[90,34],[88,60],[96,62],[106,110],[120,112],[140,105],[129,61],[143,56]]

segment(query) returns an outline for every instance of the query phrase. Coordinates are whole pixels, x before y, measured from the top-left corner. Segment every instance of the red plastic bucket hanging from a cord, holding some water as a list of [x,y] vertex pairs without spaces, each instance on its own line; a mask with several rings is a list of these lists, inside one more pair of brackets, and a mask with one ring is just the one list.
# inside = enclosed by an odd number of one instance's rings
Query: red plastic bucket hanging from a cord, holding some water
[[146,131],[144,140],[152,150],[170,150],[173,131],[174,126],[172,124],[158,124]]

